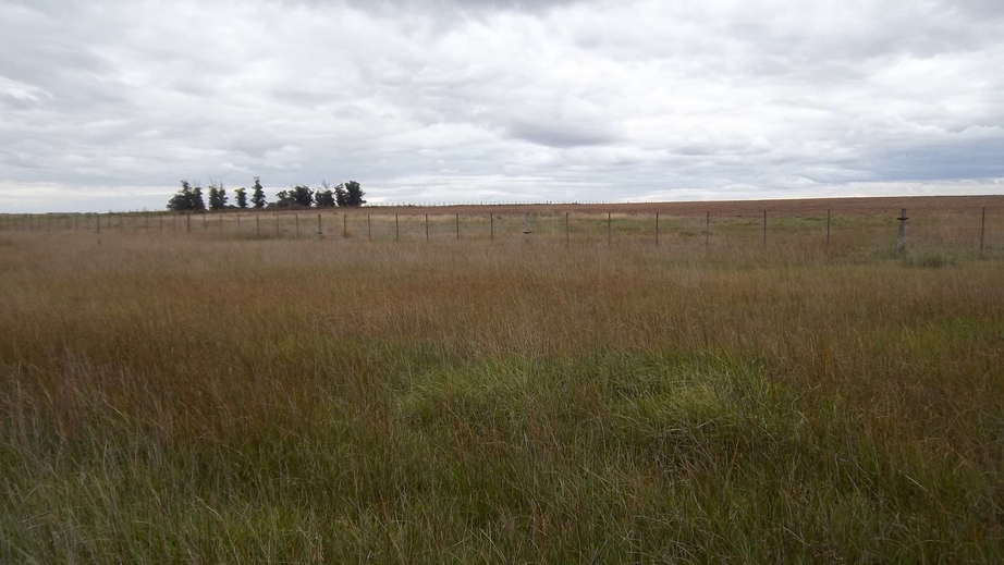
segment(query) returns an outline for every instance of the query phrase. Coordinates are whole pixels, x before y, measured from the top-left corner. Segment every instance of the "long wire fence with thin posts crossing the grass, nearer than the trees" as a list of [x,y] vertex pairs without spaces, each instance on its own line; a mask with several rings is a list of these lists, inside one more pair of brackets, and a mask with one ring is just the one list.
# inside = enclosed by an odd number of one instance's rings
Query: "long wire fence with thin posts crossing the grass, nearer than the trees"
[[[486,207],[490,208],[490,207]],[[0,214],[0,231],[334,242],[541,242],[668,247],[792,245],[1004,255],[1004,207],[914,211],[733,208],[703,213],[554,210],[335,209],[203,213]],[[899,218],[906,218],[901,220]],[[903,226],[903,242],[899,238]]]

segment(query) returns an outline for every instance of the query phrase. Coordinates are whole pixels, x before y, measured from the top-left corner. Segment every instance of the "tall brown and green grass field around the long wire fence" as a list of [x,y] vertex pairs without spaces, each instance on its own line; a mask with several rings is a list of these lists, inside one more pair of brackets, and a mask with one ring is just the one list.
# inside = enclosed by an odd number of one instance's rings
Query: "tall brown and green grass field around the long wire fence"
[[821,209],[9,222],[0,562],[1001,562],[1000,239]]

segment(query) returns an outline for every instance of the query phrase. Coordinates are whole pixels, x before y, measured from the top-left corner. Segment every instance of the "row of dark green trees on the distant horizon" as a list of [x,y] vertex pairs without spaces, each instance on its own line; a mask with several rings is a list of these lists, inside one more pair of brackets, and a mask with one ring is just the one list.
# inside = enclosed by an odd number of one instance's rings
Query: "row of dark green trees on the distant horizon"
[[261,187],[261,180],[255,176],[255,184],[252,186],[250,197],[247,189],[243,186],[234,191],[235,204],[230,204],[230,196],[223,187],[223,183],[209,183],[208,206],[203,198],[203,187],[198,183],[194,185],[188,181],[181,182],[181,189],[168,200],[168,209],[175,212],[183,211],[204,211],[204,210],[225,210],[225,209],[262,209],[262,208],[333,208],[338,207],[359,207],[366,204],[363,199],[366,193],[363,186],[356,181],[331,186],[327,181],[321,182],[320,188],[310,188],[307,185],[297,185],[289,191],[279,191],[276,194],[276,200],[269,202],[265,196],[265,189]]

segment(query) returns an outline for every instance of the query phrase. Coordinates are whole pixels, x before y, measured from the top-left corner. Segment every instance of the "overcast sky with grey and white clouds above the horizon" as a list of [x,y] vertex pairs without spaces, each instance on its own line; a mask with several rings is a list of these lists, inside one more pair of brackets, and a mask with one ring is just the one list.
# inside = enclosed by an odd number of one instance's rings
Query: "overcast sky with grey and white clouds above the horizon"
[[1001,0],[0,0],[0,212],[1004,194]]

